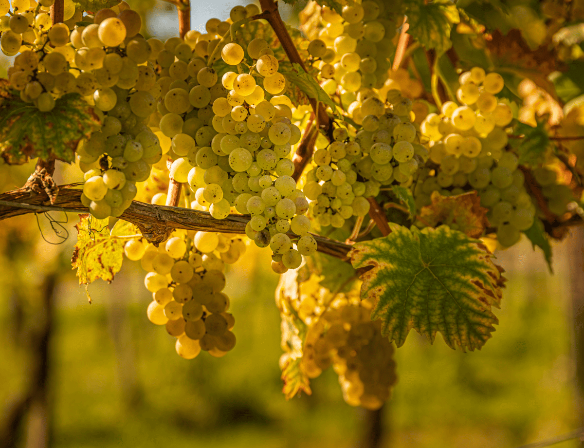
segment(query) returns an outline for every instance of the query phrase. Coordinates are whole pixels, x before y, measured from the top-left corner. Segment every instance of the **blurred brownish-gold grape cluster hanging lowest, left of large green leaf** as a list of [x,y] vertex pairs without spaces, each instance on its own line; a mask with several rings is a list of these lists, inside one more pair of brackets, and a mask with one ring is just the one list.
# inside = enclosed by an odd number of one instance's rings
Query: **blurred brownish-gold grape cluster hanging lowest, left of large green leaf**
[[317,377],[332,364],[347,404],[378,409],[397,379],[393,353],[381,322],[371,321],[369,301],[339,294],[308,331],[301,367]]

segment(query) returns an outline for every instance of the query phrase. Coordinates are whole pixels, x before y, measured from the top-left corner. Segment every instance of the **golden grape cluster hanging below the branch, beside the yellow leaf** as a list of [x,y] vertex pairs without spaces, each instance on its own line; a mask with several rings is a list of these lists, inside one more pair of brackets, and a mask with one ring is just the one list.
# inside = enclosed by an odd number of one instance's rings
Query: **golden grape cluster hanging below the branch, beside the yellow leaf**
[[235,319],[221,291],[225,263],[235,263],[245,249],[241,238],[214,232],[175,231],[158,248],[141,238],[126,243],[126,256],[148,271],[144,284],[153,298],[148,319],[166,325],[180,356],[192,359],[204,350],[221,357],[234,348]]

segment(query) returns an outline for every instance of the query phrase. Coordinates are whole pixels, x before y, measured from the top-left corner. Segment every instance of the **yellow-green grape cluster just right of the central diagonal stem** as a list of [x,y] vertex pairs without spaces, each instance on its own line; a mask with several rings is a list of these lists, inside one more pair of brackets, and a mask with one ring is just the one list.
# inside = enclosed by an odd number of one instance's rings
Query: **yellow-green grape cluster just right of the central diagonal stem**
[[366,198],[379,195],[383,185],[411,185],[427,160],[419,125],[410,121],[412,101],[396,90],[386,93],[392,101],[387,106],[372,89],[361,89],[349,110],[353,118],[361,116],[362,127],[354,138],[345,128],[335,129],[334,141],[314,154],[304,194],[316,202],[311,213],[322,226],[342,227],[352,216],[365,216]]

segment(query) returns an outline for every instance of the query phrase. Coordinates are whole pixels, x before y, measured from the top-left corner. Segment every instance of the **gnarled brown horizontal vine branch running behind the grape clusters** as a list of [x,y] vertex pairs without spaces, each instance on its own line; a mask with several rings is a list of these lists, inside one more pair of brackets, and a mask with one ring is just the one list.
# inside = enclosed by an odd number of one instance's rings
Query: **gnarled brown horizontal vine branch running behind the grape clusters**
[[[0,195],[0,201],[18,204],[19,206],[0,205],[0,220],[28,213],[39,213],[51,209],[60,211],[88,212],[81,203],[80,189],[61,187],[60,194],[50,206],[46,193],[29,192],[25,189],[12,190]],[[40,210],[22,208],[20,204],[38,206]],[[137,225],[144,238],[158,244],[164,241],[170,232],[176,228],[185,230],[223,232],[245,234],[245,224],[249,221],[248,215],[230,215],[224,220],[216,220],[205,211],[183,209],[180,207],[157,206],[144,202],[133,201],[130,207],[121,216],[123,220]],[[313,235],[317,240],[318,251],[347,260],[347,253],[351,246],[334,239]]]

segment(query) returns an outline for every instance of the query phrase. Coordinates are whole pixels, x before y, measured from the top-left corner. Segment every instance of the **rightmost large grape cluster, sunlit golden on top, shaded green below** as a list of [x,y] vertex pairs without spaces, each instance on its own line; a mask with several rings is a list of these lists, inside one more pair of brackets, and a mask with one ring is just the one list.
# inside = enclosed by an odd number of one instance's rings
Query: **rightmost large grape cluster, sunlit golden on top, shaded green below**
[[440,114],[429,114],[420,126],[437,169],[427,168],[420,176],[414,189],[416,203],[430,204],[434,191],[451,196],[477,190],[481,205],[489,209],[489,223],[497,228],[498,241],[512,246],[533,225],[536,207],[524,187],[519,159],[506,149],[505,127],[513,112],[495,96],[503,89],[503,78],[474,67],[459,81],[457,99],[463,105],[446,102]]

